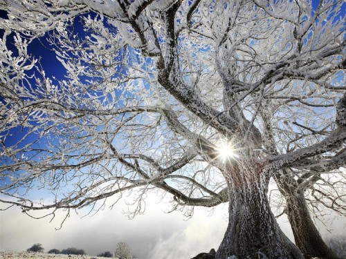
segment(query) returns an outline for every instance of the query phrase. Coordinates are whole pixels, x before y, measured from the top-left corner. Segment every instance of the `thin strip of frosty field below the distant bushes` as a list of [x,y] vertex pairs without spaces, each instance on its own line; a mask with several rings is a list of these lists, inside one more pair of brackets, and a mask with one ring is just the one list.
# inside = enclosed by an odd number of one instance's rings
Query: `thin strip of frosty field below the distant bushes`
[[52,253],[28,253],[28,252],[0,252],[0,259],[21,259],[21,258],[32,258],[32,259],[105,259],[104,257],[98,256],[68,256],[63,254],[52,254]]

